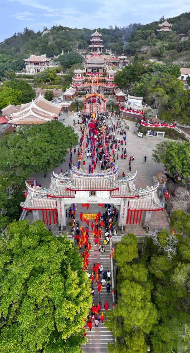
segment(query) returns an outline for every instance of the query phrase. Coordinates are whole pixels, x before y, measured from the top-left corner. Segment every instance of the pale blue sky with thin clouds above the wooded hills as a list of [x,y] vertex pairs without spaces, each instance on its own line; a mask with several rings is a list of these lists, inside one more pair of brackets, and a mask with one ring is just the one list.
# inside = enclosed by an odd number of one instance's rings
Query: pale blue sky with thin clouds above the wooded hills
[[36,32],[56,24],[90,29],[108,28],[110,24],[123,27],[189,11],[190,1],[183,0],[0,0],[0,41],[23,32],[25,27]]

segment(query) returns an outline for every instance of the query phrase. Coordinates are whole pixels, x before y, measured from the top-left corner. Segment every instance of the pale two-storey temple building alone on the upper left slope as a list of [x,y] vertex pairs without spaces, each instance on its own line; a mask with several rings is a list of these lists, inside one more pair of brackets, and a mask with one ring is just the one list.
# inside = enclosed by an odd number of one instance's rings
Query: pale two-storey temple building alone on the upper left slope
[[46,58],[46,54],[41,56],[30,54],[28,59],[23,60],[26,63],[26,70],[29,74],[46,70],[49,67],[49,61],[51,61],[51,59]]

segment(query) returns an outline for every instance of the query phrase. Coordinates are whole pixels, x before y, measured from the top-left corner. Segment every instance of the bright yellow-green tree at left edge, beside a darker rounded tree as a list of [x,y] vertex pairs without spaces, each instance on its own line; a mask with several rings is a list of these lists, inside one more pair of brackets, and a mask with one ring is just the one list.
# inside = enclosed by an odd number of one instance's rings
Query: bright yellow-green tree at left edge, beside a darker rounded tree
[[9,103],[13,105],[18,105],[21,102],[19,101],[19,96],[22,94],[21,90],[12,89],[0,86],[0,110],[7,107]]

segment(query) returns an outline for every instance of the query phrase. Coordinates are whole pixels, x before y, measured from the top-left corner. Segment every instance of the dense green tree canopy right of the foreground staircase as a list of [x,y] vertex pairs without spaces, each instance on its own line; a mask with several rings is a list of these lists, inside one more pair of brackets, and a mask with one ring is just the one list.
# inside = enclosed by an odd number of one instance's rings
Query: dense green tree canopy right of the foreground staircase
[[138,244],[138,258],[126,254],[126,261],[120,261],[126,243],[132,242],[137,252],[131,234],[115,246],[117,303],[106,325],[117,342],[109,352],[145,353],[146,343],[153,350],[158,343],[168,344],[168,351],[171,343],[189,347],[190,215],[174,211],[171,226],[176,233],[151,232]]

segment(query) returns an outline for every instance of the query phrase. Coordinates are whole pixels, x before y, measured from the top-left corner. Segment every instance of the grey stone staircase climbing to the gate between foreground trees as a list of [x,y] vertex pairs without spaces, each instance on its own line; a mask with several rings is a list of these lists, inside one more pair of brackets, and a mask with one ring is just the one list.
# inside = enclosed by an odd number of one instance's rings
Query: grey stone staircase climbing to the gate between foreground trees
[[[80,221],[79,221],[80,222]],[[81,223],[81,222],[80,222]],[[85,228],[85,223],[83,222],[83,227]],[[91,230],[91,227],[89,228]],[[103,240],[105,239],[104,236],[104,231],[102,232],[103,236],[102,239],[100,239],[100,244],[103,245]],[[89,231],[89,242],[91,243],[91,250],[90,250],[90,256],[88,258],[89,263],[88,263],[88,270],[87,272],[92,273],[93,272],[93,265],[96,264],[98,261],[100,262],[100,265],[103,265],[103,272],[105,270],[110,270],[111,271],[111,264],[110,264],[110,247],[109,245],[106,246],[105,248],[105,253],[103,255],[101,252],[99,253],[98,247],[94,243],[94,236],[93,232]],[[78,247],[78,244],[75,240],[75,245]],[[84,251],[84,245],[81,248],[81,253]],[[100,275],[100,282],[103,278],[103,272]],[[112,287],[110,289],[110,293],[108,294],[106,291],[106,285],[104,288],[102,288],[102,291],[100,294],[97,293],[97,285],[96,281],[94,280],[92,287],[94,288],[94,298],[92,303],[96,304],[101,301],[102,307],[100,310],[100,313],[103,312],[103,315],[105,315],[105,310],[104,310],[104,304],[106,300],[108,301],[109,304],[109,309],[108,310],[113,310],[113,301],[112,301]],[[99,314],[100,314],[99,313]],[[100,315],[97,315],[99,318]],[[91,312],[89,319],[91,319]],[[109,342],[113,342],[113,336],[112,332],[110,332],[105,324],[99,323],[99,327],[95,328],[95,324],[93,323],[92,330],[90,331],[87,329],[87,335],[86,335],[88,342],[86,345],[82,346],[83,352],[84,353],[108,353],[107,349],[107,344]]]

